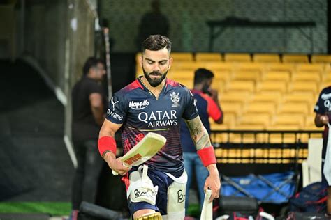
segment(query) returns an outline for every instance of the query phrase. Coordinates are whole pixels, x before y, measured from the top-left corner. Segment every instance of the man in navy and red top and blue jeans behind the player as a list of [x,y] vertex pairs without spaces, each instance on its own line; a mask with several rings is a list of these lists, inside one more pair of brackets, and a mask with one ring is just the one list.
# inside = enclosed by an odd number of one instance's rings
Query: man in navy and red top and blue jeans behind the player
[[[200,68],[194,73],[194,86],[191,93],[194,95],[196,107],[198,108],[199,116],[203,125],[210,134],[209,117],[216,123],[223,123],[223,111],[219,105],[217,91],[212,90],[210,86],[214,79],[214,74],[207,69]],[[194,145],[189,129],[186,123],[181,124],[180,140],[183,148],[184,167],[188,175],[186,185],[186,199],[185,209],[189,206],[189,188],[191,186],[193,172],[196,172],[196,180],[198,184],[198,193],[200,197],[200,210],[203,207],[203,200],[205,198],[204,184],[208,176],[208,171],[201,162]]]

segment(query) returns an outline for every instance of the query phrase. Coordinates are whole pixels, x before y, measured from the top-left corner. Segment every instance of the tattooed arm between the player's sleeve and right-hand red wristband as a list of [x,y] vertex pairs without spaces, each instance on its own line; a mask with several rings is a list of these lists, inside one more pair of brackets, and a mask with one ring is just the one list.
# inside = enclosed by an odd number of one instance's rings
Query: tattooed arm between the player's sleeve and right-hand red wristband
[[200,117],[196,117],[192,120],[186,120],[186,123],[187,127],[189,127],[191,137],[194,143],[196,143],[196,150],[212,145],[212,143],[210,143],[208,132],[203,126]]

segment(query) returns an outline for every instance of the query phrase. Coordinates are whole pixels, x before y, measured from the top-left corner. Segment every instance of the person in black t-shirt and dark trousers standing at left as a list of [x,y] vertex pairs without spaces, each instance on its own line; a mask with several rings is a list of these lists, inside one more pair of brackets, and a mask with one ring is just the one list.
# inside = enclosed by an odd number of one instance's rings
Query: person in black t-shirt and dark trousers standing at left
[[83,200],[94,203],[96,199],[98,176],[103,166],[103,160],[98,155],[98,133],[108,106],[100,84],[105,75],[103,61],[88,58],[83,73],[72,91],[72,137],[78,167],[73,179],[71,219],[77,219]]

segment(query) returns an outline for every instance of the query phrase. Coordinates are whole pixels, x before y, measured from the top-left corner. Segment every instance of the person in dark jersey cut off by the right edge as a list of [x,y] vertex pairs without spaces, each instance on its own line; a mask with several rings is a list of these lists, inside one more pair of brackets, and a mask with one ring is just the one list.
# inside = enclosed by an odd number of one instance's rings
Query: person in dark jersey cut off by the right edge
[[[331,141],[329,136],[329,125],[331,123],[331,86],[323,88],[320,95],[318,96],[318,100],[316,102],[314,112],[315,116],[315,125],[316,127],[324,126],[323,133],[323,149],[322,149],[322,183],[328,187],[328,199],[327,199],[327,207],[325,216],[328,219],[331,219],[331,170],[330,170],[330,160],[331,160],[331,149],[328,146],[328,141]],[[327,155],[327,152],[330,152]]]

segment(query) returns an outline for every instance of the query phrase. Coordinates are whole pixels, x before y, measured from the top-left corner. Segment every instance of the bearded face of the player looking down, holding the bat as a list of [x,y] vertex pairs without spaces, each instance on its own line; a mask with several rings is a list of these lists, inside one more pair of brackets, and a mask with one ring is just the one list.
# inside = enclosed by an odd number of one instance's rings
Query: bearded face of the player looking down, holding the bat
[[151,86],[156,87],[167,76],[172,64],[172,58],[170,58],[170,54],[166,48],[158,51],[146,49],[142,54],[142,61],[140,63],[145,78]]

